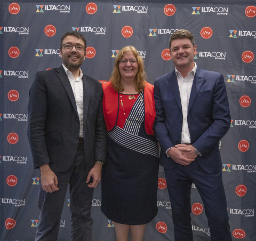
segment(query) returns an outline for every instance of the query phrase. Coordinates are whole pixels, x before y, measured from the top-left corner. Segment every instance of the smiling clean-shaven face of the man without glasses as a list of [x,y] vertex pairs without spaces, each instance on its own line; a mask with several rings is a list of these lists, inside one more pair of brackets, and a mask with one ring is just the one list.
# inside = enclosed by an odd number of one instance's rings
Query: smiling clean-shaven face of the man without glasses
[[170,54],[175,67],[179,70],[192,70],[194,68],[195,47],[188,38],[173,39]]

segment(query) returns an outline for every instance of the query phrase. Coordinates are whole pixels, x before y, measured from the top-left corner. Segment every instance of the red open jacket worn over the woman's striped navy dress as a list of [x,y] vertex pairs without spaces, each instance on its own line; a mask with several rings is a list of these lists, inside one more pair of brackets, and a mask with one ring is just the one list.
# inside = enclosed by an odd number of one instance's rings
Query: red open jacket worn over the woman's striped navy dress
[[[118,93],[113,89],[111,82],[102,83],[103,89],[103,114],[107,131],[111,131],[116,125],[118,114]],[[153,124],[156,117],[154,86],[146,83],[144,89],[145,100],[145,131],[149,135],[155,135]]]

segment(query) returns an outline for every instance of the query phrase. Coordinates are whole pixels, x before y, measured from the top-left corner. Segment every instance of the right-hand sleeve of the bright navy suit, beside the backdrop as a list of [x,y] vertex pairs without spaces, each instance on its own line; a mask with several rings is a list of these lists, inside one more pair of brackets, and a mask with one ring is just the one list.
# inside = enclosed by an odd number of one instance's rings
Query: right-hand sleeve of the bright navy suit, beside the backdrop
[[193,146],[207,155],[219,140],[228,132],[231,122],[227,90],[223,75],[219,75],[215,84],[212,100],[212,124],[207,130],[193,143]]

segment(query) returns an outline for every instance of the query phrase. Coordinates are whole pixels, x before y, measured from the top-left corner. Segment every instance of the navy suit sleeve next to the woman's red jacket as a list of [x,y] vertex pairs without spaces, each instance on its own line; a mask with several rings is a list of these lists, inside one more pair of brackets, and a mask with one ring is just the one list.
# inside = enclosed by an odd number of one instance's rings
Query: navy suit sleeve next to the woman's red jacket
[[156,107],[156,118],[155,118],[155,123],[153,128],[155,131],[156,140],[158,141],[162,150],[166,152],[166,150],[169,149],[170,147],[173,147],[174,144],[170,139],[169,133],[165,125],[165,113],[164,113],[164,108],[161,100],[161,90],[159,89],[157,79],[155,80],[154,86],[155,86],[154,98],[155,98],[155,107]]

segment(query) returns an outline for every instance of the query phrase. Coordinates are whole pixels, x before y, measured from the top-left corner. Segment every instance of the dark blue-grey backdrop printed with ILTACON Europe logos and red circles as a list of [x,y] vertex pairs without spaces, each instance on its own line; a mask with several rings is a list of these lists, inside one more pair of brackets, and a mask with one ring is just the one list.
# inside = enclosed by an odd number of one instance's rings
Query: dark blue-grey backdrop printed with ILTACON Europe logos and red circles
[[[28,92],[38,70],[61,65],[61,35],[70,30],[84,34],[87,55],[81,69],[99,81],[109,80],[118,51],[134,45],[145,60],[147,80],[153,84],[156,77],[174,68],[168,47],[177,29],[194,34],[197,65],[225,78],[231,127],[219,148],[230,228],[233,240],[256,240],[256,5],[253,1],[207,2],[211,3],[1,1],[0,240],[35,237],[39,170],[33,170],[27,140]],[[92,202],[93,241],[116,240],[114,224],[101,213],[100,205],[101,185]],[[174,240],[162,167],[157,206],[158,214],[147,225],[144,240]],[[204,205],[194,184],[191,210],[194,240],[211,240]],[[69,240],[69,233],[67,194],[59,240]]]

